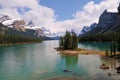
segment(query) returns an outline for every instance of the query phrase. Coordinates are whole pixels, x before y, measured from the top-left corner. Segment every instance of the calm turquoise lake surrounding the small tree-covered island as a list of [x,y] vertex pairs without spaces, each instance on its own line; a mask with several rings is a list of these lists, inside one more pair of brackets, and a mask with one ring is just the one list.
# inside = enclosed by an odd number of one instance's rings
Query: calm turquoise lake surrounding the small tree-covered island
[[[115,67],[116,60],[99,55],[60,55],[54,48],[57,40],[42,43],[0,46],[0,80],[49,80],[57,77],[75,77],[84,80],[120,80]],[[109,50],[109,43],[79,43],[79,47],[90,50]],[[99,69],[107,64],[109,70]],[[71,72],[64,72],[70,70]],[[115,74],[108,76],[108,73]]]

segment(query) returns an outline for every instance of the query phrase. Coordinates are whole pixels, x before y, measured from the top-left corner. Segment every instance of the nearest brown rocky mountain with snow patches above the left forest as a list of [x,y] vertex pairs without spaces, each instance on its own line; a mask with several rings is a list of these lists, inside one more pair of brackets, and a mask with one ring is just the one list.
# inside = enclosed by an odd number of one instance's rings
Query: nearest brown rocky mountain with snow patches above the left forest
[[[41,37],[44,32],[40,28],[35,27],[32,21],[26,22],[21,18],[10,18],[8,15],[0,15],[0,23],[4,26],[1,27],[1,32],[11,35],[20,35],[26,37]],[[31,28],[30,28],[31,27]]]

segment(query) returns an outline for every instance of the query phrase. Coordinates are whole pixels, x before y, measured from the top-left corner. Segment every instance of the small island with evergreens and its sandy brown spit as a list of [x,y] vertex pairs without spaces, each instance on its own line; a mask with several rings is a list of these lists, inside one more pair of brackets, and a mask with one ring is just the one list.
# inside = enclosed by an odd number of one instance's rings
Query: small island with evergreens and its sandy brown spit
[[95,54],[105,56],[105,51],[86,50],[78,48],[78,37],[74,31],[66,31],[64,37],[60,37],[59,47],[55,48],[60,54],[77,55],[77,54]]

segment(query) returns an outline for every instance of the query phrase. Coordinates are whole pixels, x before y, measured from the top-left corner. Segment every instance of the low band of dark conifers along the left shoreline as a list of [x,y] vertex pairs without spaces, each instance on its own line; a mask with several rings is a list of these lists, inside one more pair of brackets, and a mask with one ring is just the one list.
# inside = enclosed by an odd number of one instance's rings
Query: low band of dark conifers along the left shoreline
[[29,43],[29,42],[41,42],[40,38],[30,38],[19,35],[9,35],[0,33],[0,44],[17,44],[17,43]]

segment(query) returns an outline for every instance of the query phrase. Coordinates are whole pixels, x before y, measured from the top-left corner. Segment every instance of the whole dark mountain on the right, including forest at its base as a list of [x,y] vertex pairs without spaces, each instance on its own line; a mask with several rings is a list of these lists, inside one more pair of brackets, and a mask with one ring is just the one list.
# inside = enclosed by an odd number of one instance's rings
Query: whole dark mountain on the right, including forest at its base
[[[120,8],[120,5],[119,5]],[[79,41],[91,41],[91,42],[108,42],[120,40],[120,9],[118,12],[107,12],[105,10],[99,17],[99,22],[96,27],[93,27],[84,34],[79,36]],[[83,28],[84,30],[85,28]]]

